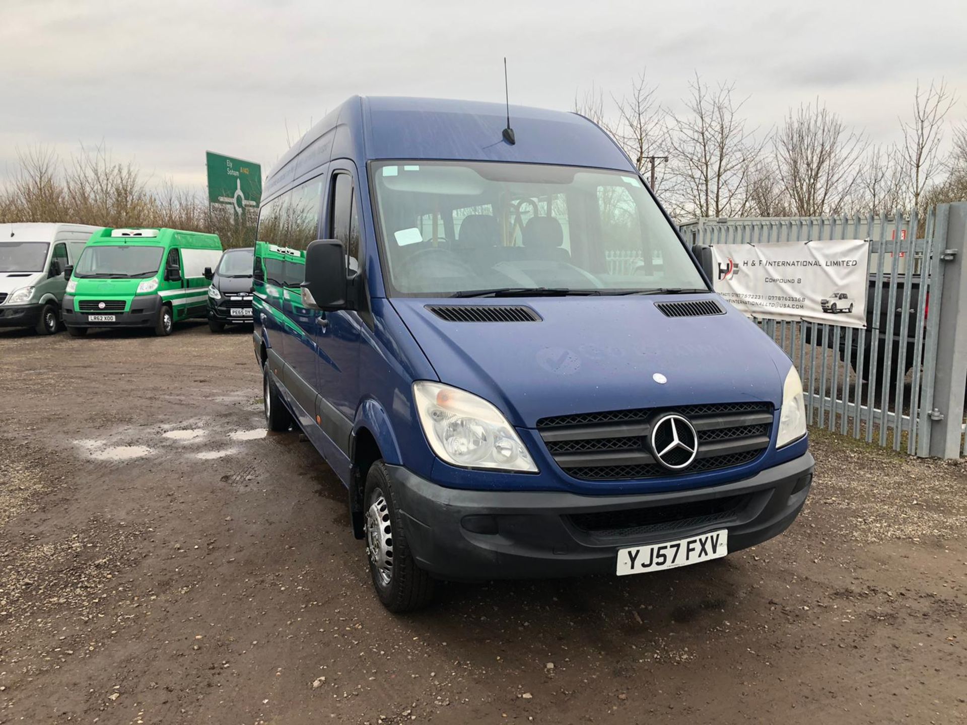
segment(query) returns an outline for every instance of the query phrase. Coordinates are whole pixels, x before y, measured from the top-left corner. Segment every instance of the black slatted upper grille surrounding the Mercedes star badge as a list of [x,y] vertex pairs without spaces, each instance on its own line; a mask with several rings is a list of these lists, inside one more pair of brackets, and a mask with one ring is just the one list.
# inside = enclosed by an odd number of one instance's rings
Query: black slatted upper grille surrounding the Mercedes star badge
[[[698,436],[695,460],[681,471],[662,466],[649,443],[652,423],[670,412],[689,419]],[[538,420],[538,432],[557,464],[585,480],[659,478],[740,466],[768,448],[772,428],[768,403],[635,408]]]

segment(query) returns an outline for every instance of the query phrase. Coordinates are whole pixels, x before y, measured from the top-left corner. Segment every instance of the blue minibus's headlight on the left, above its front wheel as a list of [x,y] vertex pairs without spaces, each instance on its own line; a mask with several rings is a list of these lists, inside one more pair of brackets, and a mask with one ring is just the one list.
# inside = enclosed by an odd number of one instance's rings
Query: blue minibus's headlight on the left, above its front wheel
[[538,472],[513,426],[483,398],[425,381],[413,384],[413,398],[426,440],[441,460],[463,468]]

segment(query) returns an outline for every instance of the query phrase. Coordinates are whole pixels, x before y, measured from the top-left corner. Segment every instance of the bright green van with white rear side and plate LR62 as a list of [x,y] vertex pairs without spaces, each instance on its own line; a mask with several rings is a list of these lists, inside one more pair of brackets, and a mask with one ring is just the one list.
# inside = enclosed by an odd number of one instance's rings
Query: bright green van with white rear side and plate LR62
[[215,267],[214,234],[178,229],[103,229],[68,268],[64,324],[79,337],[90,328],[149,328],[171,334],[175,322],[204,319],[205,268]]

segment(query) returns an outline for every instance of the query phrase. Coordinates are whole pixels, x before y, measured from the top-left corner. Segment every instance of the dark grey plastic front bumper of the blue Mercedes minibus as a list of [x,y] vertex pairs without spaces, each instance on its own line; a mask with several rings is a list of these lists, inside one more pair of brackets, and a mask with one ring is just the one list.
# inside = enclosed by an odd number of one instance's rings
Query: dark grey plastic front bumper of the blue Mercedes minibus
[[799,514],[813,459],[805,453],[714,487],[631,496],[458,490],[388,468],[419,565],[445,579],[481,580],[614,574],[620,548],[720,529],[728,529],[730,552],[753,546]]

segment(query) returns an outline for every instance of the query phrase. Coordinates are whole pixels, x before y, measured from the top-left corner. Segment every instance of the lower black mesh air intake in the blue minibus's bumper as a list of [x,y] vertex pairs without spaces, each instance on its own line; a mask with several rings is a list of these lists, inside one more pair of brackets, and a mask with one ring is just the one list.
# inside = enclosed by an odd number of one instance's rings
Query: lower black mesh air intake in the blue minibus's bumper
[[736,518],[747,507],[748,494],[670,506],[574,513],[571,524],[594,536],[647,536],[713,526]]

